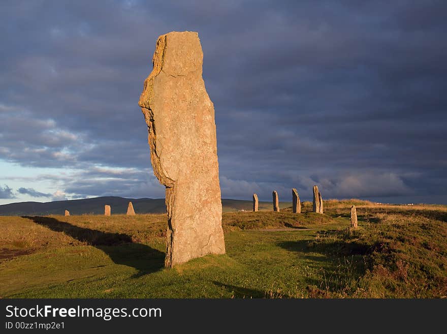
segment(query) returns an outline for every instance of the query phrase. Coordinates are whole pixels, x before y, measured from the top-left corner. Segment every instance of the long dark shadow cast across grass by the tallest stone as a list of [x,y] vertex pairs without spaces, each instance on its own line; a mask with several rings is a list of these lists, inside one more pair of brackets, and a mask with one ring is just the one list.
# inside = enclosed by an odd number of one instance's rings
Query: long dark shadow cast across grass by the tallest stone
[[140,277],[162,269],[165,265],[165,253],[147,245],[137,244],[130,235],[110,233],[79,227],[67,222],[61,222],[50,217],[29,217],[36,224],[45,226],[52,231],[62,232],[74,239],[91,245],[104,253],[116,264],[123,264],[138,270],[134,277]]

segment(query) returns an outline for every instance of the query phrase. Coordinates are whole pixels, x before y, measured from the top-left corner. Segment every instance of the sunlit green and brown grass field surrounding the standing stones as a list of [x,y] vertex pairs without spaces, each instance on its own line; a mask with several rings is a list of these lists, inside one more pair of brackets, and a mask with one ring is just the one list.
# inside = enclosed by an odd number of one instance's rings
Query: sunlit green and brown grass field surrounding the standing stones
[[325,215],[310,210],[225,212],[227,254],[172,269],[166,215],[0,217],[0,297],[447,296],[447,206],[328,200]]

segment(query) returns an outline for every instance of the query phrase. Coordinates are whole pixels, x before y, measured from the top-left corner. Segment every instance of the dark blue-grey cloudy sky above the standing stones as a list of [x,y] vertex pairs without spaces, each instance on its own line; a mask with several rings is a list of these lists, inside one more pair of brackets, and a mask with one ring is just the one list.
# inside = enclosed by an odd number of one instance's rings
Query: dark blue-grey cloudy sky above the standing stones
[[199,33],[222,198],[447,204],[445,1],[2,1],[0,204],[163,198],[138,106]]

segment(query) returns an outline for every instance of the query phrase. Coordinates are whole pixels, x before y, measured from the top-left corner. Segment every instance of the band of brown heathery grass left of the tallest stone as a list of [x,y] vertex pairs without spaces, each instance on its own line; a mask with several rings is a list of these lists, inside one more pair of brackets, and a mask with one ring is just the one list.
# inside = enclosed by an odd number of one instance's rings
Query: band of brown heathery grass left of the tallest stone
[[50,248],[144,243],[165,236],[166,215],[0,216],[0,260]]

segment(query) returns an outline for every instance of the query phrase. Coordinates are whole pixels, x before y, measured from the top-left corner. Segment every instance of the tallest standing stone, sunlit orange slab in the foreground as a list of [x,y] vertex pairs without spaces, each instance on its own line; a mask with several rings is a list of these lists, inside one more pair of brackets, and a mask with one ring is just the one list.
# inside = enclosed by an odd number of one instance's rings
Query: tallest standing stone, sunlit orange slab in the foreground
[[155,176],[166,187],[165,266],[224,254],[214,106],[195,32],[158,37],[139,106]]

